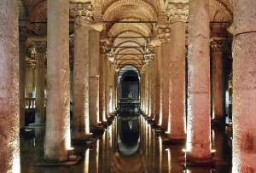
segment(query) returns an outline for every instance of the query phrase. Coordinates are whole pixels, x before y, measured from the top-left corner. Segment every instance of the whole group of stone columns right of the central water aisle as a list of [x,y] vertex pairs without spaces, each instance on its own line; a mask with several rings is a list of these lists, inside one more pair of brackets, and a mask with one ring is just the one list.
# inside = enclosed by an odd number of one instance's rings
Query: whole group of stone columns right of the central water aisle
[[[253,153],[252,133],[255,130],[253,112],[255,112],[255,87],[253,87],[254,55],[253,39],[256,36],[256,18],[253,17],[253,8],[256,3],[241,1],[236,3],[235,26],[237,32],[233,43],[234,57],[234,151],[233,170],[244,172],[255,170],[252,162],[246,159],[245,154]],[[189,81],[188,81],[188,115],[185,122],[185,21],[188,13],[188,4],[168,4],[172,10],[169,20],[171,29],[160,28],[162,40],[160,60],[160,125],[167,129],[170,138],[187,138],[187,159],[195,162],[211,160],[211,124],[210,124],[210,28],[209,2],[199,0],[189,1]],[[173,10],[174,9],[174,10]],[[177,10],[178,9],[178,10]],[[247,10],[244,10],[247,9]],[[177,11],[176,11],[177,10]],[[179,12],[178,12],[179,11]],[[240,13],[246,11],[246,13]],[[249,17],[250,21],[246,20]],[[254,34],[254,35],[253,35]],[[170,40],[169,40],[170,39]],[[171,41],[171,42],[169,42]],[[217,122],[223,120],[223,68],[221,42],[212,42],[212,118]],[[160,50],[160,48],[158,50]],[[253,48],[253,49],[252,49]],[[157,49],[157,47],[156,47]],[[159,58],[160,57],[160,58]],[[243,59],[244,57],[244,59]],[[153,64],[155,62],[152,62]],[[155,74],[155,73],[154,73]],[[155,74],[158,75],[158,74]],[[148,114],[148,70],[143,74],[144,87],[143,111]],[[158,82],[156,81],[156,84]],[[157,102],[154,107],[156,107]],[[247,107],[247,108],[245,108]],[[159,109],[157,109],[159,110]],[[151,116],[151,114],[148,114]],[[156,121],[158,119],[155,119]],[[168,122],[168,123],[166,123]],[[203,124],[203,127],[202,127]],[[187,126],[187,127],[186,127]],[[241,126],[243,128],[241,128]],[[243,146],[243,147],[241,147]],[[247,160],[247,161],[246,161]]]

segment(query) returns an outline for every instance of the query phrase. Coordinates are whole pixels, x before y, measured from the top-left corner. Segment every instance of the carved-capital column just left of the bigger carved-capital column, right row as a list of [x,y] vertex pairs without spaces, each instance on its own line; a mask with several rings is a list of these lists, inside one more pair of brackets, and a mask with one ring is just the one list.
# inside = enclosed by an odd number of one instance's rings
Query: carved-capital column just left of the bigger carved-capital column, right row
[[161,40],[161,72],[160,72],[160,90],[161,90],[161,119],[160,126],[167,130],[169,118],[169,80],[170,80],[170,58],[172,43],[170,43],[170,27],[159,26],[158,37]]

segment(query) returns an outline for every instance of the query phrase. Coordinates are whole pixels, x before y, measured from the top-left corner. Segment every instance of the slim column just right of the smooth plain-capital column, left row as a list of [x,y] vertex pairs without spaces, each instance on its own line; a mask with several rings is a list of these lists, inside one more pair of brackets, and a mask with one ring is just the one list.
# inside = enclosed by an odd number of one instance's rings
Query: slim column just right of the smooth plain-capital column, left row
[[100,57],[100,93],[99,93],[99,115],[100,120],[106,121],[106,110],[105,110],[105,55],[104,55],[104,48],[101,46],[101,57]]

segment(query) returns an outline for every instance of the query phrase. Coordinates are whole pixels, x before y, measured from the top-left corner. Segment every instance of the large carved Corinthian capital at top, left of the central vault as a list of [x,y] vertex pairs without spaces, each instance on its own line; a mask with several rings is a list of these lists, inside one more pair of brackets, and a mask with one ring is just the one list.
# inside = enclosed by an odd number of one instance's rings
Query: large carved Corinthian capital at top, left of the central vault
[[89,3],[70,3],[70,14],[78,22],[90,22],[93,18],[92,4]]

